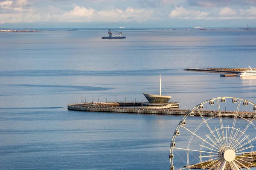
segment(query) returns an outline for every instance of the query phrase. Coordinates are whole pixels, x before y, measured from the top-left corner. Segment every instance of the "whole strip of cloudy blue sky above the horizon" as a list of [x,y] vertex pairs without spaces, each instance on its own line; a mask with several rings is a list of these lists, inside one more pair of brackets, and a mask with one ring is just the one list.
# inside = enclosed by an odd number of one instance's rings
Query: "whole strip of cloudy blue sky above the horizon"
[[0,28],[256,27],[256,0],[0,0]]

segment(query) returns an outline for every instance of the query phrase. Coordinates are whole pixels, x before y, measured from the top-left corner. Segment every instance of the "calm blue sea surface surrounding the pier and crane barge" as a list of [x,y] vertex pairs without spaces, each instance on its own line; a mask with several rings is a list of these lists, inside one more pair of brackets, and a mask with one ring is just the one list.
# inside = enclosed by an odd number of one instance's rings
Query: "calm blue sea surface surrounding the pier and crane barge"
[[162,93],[180,108],[219,96],[256,103],[256,79],[182,71],[255,67],[254,30],[102,36],[107,31],[0,32],[1,170],[169,170],[182,117],[67,110],[81,99],[144,101],[142,92],[158,93],[159,74]]

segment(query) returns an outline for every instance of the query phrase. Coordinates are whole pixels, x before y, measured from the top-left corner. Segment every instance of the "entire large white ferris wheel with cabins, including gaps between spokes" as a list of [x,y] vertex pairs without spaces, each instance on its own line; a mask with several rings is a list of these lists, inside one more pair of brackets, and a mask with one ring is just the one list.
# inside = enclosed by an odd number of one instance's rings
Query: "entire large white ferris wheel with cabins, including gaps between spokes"
[[255,111],[254,103],[234,97],[209,99],[192,108],[172,136],[170,170],[256,167]]

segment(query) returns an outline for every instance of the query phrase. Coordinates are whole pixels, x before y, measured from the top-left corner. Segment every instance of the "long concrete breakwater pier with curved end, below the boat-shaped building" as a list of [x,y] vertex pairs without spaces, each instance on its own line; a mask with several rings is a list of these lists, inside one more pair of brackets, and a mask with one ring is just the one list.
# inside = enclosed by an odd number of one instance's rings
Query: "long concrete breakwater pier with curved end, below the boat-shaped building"
[[[133,103],[126,103],[125,107],[119,107],[119,102],[99,102],[99,103],[75,103],[67,106],[69,110],[90,111],[90,112],[111,112],[111,113],[135,113],[135,114],[158,114],[158,115],[176,115],[184,116],[189,110],[186,109],[153,109],[142,107],[142,103],[137,102],[137,106]],[[218,111],[203,110],[200,112],[202,116],[216,116]],[[194,112],[194,116],[200,116],[199,112]],[[222,117],[234,117],[235,111],[221,111]],[[239,116],[243,118],[253,118],[254,112],[240,111]]]

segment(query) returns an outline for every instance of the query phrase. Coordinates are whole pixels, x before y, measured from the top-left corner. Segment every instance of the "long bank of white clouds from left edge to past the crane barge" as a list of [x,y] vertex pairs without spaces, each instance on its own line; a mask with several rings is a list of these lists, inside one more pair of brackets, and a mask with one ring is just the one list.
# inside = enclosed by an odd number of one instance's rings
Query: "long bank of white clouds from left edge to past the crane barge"
[[[37,8],[28,5],[26,0],[7,0],[0,2],[1,8],[7,12],[0,14],[0,23],[32,23],[32,22],[143,22],[151,18],[153,11],[127,7],[97,11],[93,8],[74,6],[70,11],[48,6]],[[19,5],[20,7],[18,7]],[[26,6],[26,7],[22,7]]]

